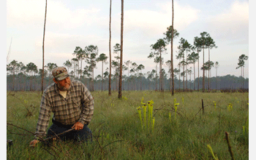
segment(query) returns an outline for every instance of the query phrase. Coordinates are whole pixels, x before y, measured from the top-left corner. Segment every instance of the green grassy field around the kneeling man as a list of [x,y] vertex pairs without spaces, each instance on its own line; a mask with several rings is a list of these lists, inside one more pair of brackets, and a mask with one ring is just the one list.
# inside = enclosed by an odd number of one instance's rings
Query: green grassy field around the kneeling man
[[[121,100],[117,92],[91,94],[95,102],[89,124],[92,143],[59,142],[51,147],[40,143],[30,148],[33,135],[29,132],[36,129],[41,93],[7,92],[7,123],[17,126],[7,125],[7,140],[13,141],[7,159],[231,159],[225,132],[234,158],[249,159],[248,93],[179,92],[171,96],[169,92],[123,91]],[[140,121],[137,108],[143,106],[142,98],[143,103],[154,101],[154,127],[148,107],[146,116],[140,108]]]

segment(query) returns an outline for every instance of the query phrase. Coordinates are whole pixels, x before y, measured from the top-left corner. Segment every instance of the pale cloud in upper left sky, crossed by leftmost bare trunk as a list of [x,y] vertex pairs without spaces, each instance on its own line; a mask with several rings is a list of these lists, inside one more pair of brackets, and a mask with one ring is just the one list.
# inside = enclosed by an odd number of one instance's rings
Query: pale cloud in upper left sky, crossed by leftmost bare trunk
[[[61,28],[78,28],[81,25],[91,25],[94,22],[94,15],[100,9],[69,9],[61,1],[48,1],[47,4],[47,25],[61,25]],[[37,23],[44,23],[45,1],[27,0],[7,1],[7,26],[18,25],[28,26]]]

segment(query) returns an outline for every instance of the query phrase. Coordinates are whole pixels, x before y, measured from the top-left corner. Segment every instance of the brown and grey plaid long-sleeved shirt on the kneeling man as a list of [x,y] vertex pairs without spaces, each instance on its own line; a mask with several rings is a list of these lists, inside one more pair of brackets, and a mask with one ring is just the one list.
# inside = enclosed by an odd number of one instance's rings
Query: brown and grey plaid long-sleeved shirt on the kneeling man
[[75,124],[77,121],[89,124],[94,113],[94,98],[80,81],[71,81],[66,98],[59,94],[55,83],[50,84],[42,95],[36,131],[38,137],[46,135],[51,112],[53,119],[61,124]]

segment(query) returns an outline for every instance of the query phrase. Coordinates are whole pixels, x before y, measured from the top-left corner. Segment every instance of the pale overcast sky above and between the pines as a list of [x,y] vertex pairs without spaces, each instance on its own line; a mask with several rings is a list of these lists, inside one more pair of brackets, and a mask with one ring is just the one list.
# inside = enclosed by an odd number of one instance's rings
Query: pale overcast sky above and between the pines
[[[7,40],[9,64],[12,60],[32,62],[42,68],[42,36],[45,18],[45,1],[7,0]],[[251,2],[250,2],[251,3]],[[63,65],[71,60],[75,47],[85,48],[97,45],[99,55],[109,57],[109,12],[110,1],[53,1],[48,0],[45,31],[45,65]],[[148,59],[151,44],[165,37],[163,34],[172,23],[170,0],[124,0],[124,59],[138,65],[145,65],[143,73],[155,69],[153,59]],[[120,44],[121,1],[112,1],[111,50]],[[211,61],[219,62],[218,76],[227,74],[241,76],[238,57],[249,56],[249,1],[248,0],[174,0],[174,28],[179,36],[174,39],[173,53],[177,55],[178,41],[187,39],[193,44],[195,36],[206,31],[214,39],[217,49],[211,49]],[[163,55],[165,62],[170,60],[170,44]],[[175,56],[176,57],[176,56]],[[174,57],[174,68],[178,60]],[[6,57],[4,57],[6,58]],[[113,59],[113,58],[112,58]],[[208,49],[205,61],[208,60]],[[250,56],[249,56],[250,60]],[[249,60],[246,60],[244,76],[249,77]],[[200,52],[200,66],[203,52]],[[83,63],[83,67],[86,63]],[[105,65],[107,68],[109,65]],[[192,65],[191,65],[192,66]],[[167,71],[167,66],[164,66]],[[197,65],[196,65],[197,71]],[[94,75],[101,73],[97,64]],[[127,71],[124,72],[127,74]],[[200,76],[202,76],[200,72]],[[215,76],[216,69],[211,69]],[[196,72],[197,75],[197,72]]]

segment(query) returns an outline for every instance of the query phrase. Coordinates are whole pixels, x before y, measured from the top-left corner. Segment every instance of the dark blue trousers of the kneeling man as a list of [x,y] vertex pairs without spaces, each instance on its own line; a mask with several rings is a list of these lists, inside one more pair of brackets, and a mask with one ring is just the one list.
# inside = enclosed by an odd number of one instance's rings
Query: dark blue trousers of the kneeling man
[[[72,126],[73,125],[59,124],[58,122],[53,123],[53,125],[51,125],[50,128],[48,129],[47,137],[58,135],[61,132],[71,129]],[[60,135],[59,138],[61,140],[74,140],[78,142],[80,141],[88,142],[88,140],[92,141],[92,134],[91,134],[91,129],[89,129],[89,127],[87,127],[87,124],[85,124],[83,126],[83,129],[72,130],[70,132],[64,133],[63,135]]]

